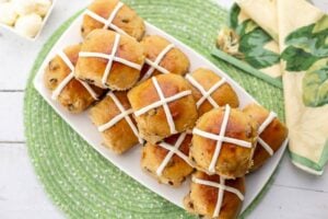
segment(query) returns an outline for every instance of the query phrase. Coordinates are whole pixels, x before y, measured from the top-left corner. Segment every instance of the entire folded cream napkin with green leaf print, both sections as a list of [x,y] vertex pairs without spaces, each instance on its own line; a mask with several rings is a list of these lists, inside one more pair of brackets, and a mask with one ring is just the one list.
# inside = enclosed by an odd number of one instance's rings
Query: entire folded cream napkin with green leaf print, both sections
[[292,162],[321,175],[328,161],[328,15],[306,0],[237,0],[216,45],[271,81],[282,77]]

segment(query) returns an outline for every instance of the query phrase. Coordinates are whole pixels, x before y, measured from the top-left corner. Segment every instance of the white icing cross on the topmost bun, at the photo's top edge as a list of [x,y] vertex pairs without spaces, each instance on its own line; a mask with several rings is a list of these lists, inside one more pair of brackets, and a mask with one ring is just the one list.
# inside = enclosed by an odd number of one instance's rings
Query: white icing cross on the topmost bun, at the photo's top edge
[[96,14],[95,12],[86,9],[85,10],[85,14],[91,16],[92,19],[96,20],[97,22],[101,22],[104,24],[103,28],[112,28],[114,31],[116,31],[117,33],[119,34],[122,34],[122,35],[128,35],[127,32],[125,32],[124,30],[121,30],[120,27],[118,27],[117,25],[115,25],[113,23],[114,19],[116,18],[118,11],[124,7],[124,3],[122,2],[118,2],[114,10],[112,11],[112,13],[109,14],[108,19],[104,19],[103,16]]

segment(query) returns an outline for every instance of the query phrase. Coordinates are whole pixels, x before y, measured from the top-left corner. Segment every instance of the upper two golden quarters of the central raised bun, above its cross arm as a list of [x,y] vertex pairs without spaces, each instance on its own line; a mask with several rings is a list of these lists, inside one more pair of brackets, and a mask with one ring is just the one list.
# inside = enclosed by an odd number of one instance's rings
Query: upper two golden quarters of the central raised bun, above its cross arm
[[[160,74],[155,77],[165,97],[173,96],[183,91],[190,90],[187,81],[177,74]],[[128,97],[134,111],[143,108],[160,100],[157,91],[152,82],[152,79],[140,83],[131,89]],[[174,107],[174,106],[172,106]],[[174,108],[171,108],[174,112]],[[174,117],[174,115],[173,115]]]

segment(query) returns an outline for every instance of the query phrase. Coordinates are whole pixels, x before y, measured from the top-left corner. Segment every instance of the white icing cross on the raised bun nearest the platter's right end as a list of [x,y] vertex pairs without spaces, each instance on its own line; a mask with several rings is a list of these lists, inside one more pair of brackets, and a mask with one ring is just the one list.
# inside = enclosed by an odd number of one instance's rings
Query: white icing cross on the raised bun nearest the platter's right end
[[215,164],[218,162],[223,142],[234,143],[234,145],[237,145],[237,146],[241,146],[241,147],[244,147],[244,148],[251,148],[251,142],[248,142],[248,141],[245,141],[245,140],[238,140],[238,139],[235,139],[235,138],[230,138],[230,137],[224,136],[225,135],[225,129],[227,127],[230,112],[231,112],[230,105],[225,105],[224,117],[223,117],[223,122],[222,122],[219,135],[207,132],[207,131],[200,130],[198,128],[194,128],[194,130],[192,130],[194,135],[198,135],[198,136],[201,136],[203,138],[209,138],[209,139],[212,139],[212,140],[216,141],[215,151],[214,151],[214,154],[212,157],[212,160],[211,160],[211,163],[210,163],[210,166],[209,166],[209,172],[210,173],[215,173]]

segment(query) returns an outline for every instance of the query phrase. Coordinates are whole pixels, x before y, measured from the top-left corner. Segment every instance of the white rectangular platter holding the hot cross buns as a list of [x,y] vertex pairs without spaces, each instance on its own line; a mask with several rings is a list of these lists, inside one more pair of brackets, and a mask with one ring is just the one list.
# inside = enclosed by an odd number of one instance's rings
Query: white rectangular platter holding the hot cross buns
[[[159,184],[156,180],[149,176],[140,168],[140,155],[141,147],[134,147],[132,150],[128,151],[122,155],[117,155],[113,153],[109,149],[102,146],[101,132],[97,131],[96,127],[91,123],[87,112],[72,115],[61,107],[56,101],[51,100],[51,93],[48,91],[43,83],[44,69],[48,65],[48,61],[56,56],[59,50],[62,50],[66,46],[80,43],[82,37],[80,35],[80,26],[82,23],[82,15],[80,15],[71,26],[66,31],[66,33],[60,37],[60,39],[52,47],[48,56],[45,58],[39,71],[34,79],[34,85],[40,95],[52,106],[52,108],[83,138],[91,147],[104,155],[108,161],[114,163],[121,171],[133,177],[136,181],[148,187],[149,189],[157,193],[162,197],[172,201],[173,204],[183,207],[183,198],[188,194],[189,182],[185,182],[181,187],[173,188],[167,185]],[[173,44],[175,44],[179,49],[181,49],[190,59],[190,71],[204,67],[213,70],[220,77],[225,78],[227,82],[236,91],[241,107],[246,104],[256,102],[243,88],[241,88],[236,82],[234,82],[226,73],[218,69],[213,64],[204,59],[202,56],[197,54],[195,50],[183,44],[181,42],[175,39],[173,36],[164,33],[163,31],[156,28],[155,26],[147,23],[147,34],[161,35]],[[251,204],[251,201],[258,196],[263,186],[269,181],[273,171],[276,170],[283,151],[285,149],[286,142],[283,143],[282,148],[266,163],[266,165],[257,171],[256,173],[247,176],[246,196],[243,205],[243,211]]]

